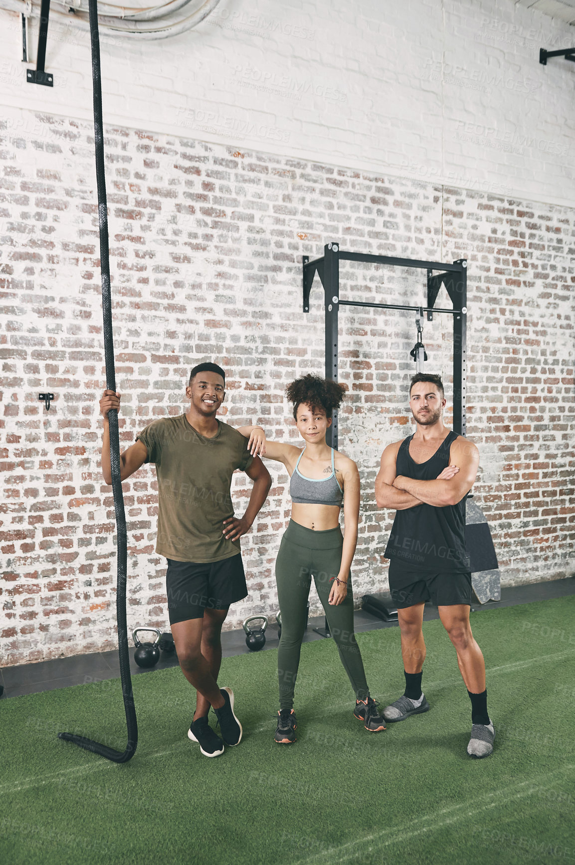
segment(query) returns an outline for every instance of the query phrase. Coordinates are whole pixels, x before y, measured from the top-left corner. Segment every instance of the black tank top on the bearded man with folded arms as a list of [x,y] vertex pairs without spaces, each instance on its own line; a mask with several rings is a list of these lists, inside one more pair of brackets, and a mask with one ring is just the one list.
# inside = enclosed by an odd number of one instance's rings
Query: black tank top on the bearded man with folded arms
[[[415,463],[409,456],[409,443],[413,435],[403,439],[397,452],[397,475],[431,481],[449,465],[449,449],[458,438],[449,432],[437,451],[425,463]],[[418,571],[469,571],[470,561],[465,550],[465,499],[457,504],[438,508],[432,504],[418,504],[414,508],[398,510],[383,554],[386,559],[405,563]]]

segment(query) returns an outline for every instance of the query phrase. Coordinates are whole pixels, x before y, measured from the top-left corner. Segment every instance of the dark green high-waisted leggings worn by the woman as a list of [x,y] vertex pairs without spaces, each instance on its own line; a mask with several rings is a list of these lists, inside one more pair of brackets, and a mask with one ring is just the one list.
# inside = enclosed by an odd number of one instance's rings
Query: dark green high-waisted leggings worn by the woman
[[[327,602],[341,565],[341,529],[314,531],[291,520],[281,538],[275,561],[275,579],[281,611],[281,640],[278,650],[280,708],[294,706],[295,679],[300,665],[301,640],[306,630],[306,608],[312,577],[315,582],[332,638],[338,646],[341,663],[350,678],[358,700],[369,695],[362,656],[353,631],[353,593],[351,574],[347,597],[338,606]],[[311,676],[311,671],[309,672]]]

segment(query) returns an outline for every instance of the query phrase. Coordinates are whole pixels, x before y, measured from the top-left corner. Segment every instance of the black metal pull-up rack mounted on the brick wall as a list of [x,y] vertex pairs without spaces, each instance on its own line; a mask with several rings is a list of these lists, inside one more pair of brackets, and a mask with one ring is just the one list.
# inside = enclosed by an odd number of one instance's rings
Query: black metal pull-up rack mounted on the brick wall
[[[427,271],[427,306],[408,304],[370,304],[362,300],[339,297],[339,262],[361,261],[396,267],[414,267]],[[466,378],[466,313],[467,313],[467,260],[452,264],[440,261],[390,258],[387,255],[345,252],[338,243],[327,243],[319,259],[303,256],[303,311],[309,312],[309,297],[315,274],[319,275],[325,293],[325,378],[338,381],[338,307],[361,306],[370,309],[427,312],[427,321],[433,321],[434,312],[453,316],[453,429],[465,434],[465,378]],[[440,309],[435,301],[441,285],[452,301],[452,309]],[[333,413],[332,426],[327,431],[328,443],[338,446],[338,413]]]

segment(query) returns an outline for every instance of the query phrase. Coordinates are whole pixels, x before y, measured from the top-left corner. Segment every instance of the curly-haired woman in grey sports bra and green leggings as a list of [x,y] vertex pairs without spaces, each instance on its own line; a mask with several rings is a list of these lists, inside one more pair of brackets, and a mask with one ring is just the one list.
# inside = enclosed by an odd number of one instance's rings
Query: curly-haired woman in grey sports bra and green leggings
[[[281,611],[280,710],[275,741],[281,745],[296,740],[294,685],[306,630],[312,577],[339,657],[356,694],[353,714],[370,732],[385,729],[376,702],[370,697],[353,631],[350,567],[357,544],[359,472],[353,460],[325,442],[325,432],[332,425],[333,409],[341,404],[345,390],[344,385],[317,375],[305,375],[288,385],[286,394],[294,404],[295,423],[306,443],[303,449],[266,441],[259,426],[243,426],[239,430],[250,438],[252,452],[283,463],[291,476],[292,518],[275,561]],[[345,535],[339,528],[342,503]]]

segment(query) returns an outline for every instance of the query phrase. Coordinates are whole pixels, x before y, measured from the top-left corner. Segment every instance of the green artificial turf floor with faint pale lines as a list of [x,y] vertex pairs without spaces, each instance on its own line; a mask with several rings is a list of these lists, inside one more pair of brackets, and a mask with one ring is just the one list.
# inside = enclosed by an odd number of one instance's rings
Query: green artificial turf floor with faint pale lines
[[[56,738],[123,750],[119,680],[3,701],[0,862],[575,862],[574,613],[569,597],[472,615],[496,726],[483,760],[465,751],[471,704],[439,621],[424,625],[431,711],[380,734],[353,717],[332,640],[302,648],[293,746],[273,741],[276,650],[224,660],[244,737],[216,759],[186,738],[177,668],[134,679],[140,740],[124,766]],[[399,630],[357,640],[372,695],[392,702]]]

